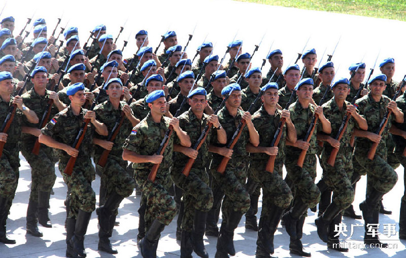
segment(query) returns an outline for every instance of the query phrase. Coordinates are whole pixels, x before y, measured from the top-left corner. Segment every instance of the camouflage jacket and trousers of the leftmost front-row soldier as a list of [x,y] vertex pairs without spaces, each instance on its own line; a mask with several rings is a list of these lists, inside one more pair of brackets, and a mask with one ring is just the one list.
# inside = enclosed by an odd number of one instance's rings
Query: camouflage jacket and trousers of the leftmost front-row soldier
[[[125,140],[123,148],[140,155],[153,155],[159,148],[163,136],[169,127],[169,118],[162,116],[159,124],[148,113],[136,127],[133,128],[129,137]],[[169,168],[172,165],[173,137],[168,139],[168,144],[163,153],[162,163],[159,165],[155,182],[148,180],[148,175],[153,166],[152,163],[133,163],[134,178],[141,187],[147,200],[145,211],[146,231],[157,219],[164,225],[169,225],[176,216],[176,204],[168,194],[172,186]]]

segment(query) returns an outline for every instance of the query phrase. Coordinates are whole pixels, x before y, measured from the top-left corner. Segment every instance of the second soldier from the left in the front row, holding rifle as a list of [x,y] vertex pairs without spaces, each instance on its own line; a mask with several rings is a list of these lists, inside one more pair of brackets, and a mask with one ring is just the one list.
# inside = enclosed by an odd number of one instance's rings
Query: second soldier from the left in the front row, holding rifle
[[[222,128],[217,115],[204,114],[207,105],[206,91],[196,88],[188,95],[190,109],[178,116],[179,126],[195,144],[201,131],[210,122],[216,133],[209,132],[199,151],[182,147],[179,140],[174,144],[174,164],[171,178],[183,190],[184,214],[182,219],[181,256],[190,257],[194,251],[200,257],[209,257],[203,243],[207,212],[213,205],[213,192],[209,186],[209,175],[206,165],[210,162],[209,143],[212,137],[217,137],[220,144],[226,144],[227,135]],[[197,130],[196,130],[197,128]],[[177,168],[183,168],[188,158],[194,159],[189,175],[185,177]]]

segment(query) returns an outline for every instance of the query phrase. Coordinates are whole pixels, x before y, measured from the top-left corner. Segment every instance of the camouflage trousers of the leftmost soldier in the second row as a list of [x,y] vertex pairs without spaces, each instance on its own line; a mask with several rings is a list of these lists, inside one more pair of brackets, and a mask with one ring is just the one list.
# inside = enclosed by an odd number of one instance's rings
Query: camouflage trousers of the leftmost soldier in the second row
[[94,167],[88,161],[76,160],[71,176],[63,173],[65,167],[66,163],[59,161],[59,170],[70,192],[68,197],[70,199],[69,215],[67,218],[75,219],[79,209],[92,212],[96,208],[96,194],[91,185],[95,179]]

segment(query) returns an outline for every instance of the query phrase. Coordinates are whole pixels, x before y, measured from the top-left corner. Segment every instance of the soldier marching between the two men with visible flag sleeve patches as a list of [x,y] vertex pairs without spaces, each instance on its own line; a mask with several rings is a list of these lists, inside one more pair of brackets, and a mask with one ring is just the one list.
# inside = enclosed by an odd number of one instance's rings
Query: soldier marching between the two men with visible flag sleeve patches
[[93,143],[95,146],[94,163],[98,163],[101,154],[105,150],[109,150],[107,163],[103,169],[100,185],[107,188],[105,203],[100,206],[96,211],[98,214],[98,250],[108,253],[118,253],[117,249],[111,246],[109,237],[112,235],[114,222],[116,221],[116,214],[118,206],[121,201],[130,196],[135,182],[130,175],[127,174],[127,162],[122,160],[122,145],[125,138],[131,132],[132,126],[136,126],[140,120],[133,116],[130,107],[125,102],[120,102],[123,95],[123,84],[119,78],[110,79],[104,85],[104,89],[109,96],[109,99],[94,108],[96,119],[103,122],[110,133],[116,125],[117,119],[121,115],[125,115],[122,121],[120,131],[118,132],[114,141],[108,141],[107,137],[95,135]]

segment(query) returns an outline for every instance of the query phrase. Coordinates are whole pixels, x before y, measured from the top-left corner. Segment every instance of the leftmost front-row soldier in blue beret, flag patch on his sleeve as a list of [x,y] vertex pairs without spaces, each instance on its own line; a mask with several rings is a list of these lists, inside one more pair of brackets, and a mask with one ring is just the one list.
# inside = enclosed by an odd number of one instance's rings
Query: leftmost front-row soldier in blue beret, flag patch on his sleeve
[[[163,133],[172,125],[184,147],[190,147],[189,136],[179,127],[177,118],[163,116],[166,112],[165,94],[162,90],[152,92],[146,98],[151,111],[131,131],[123,146],[123,159],[133,162],[134,177],[146,196],[146,235],[140,241],[143,257],[155,257],[160,233],[176,215],[176,204],[168,194],[172,186],[168,168],[172,164],[173,138],[168,139],[163,155],[155,152],[161,143]],[[155,181],[148,180],[153,164],[160,164]]]

